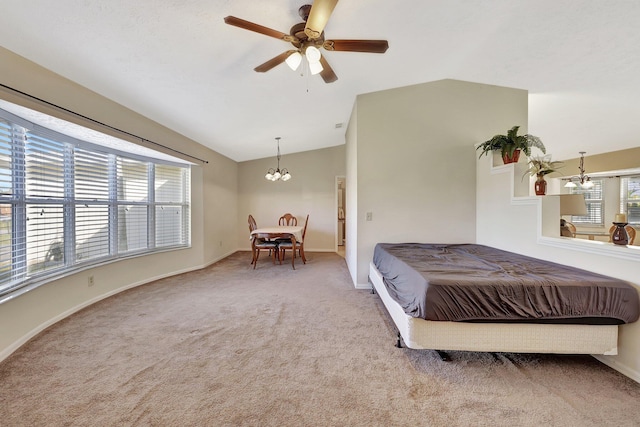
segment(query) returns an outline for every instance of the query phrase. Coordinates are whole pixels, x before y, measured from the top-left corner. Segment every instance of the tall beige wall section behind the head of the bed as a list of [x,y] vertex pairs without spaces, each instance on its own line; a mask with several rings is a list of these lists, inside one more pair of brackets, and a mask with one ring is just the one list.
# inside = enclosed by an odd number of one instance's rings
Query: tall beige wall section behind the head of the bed
[[348,223],[347,254],[357,255],[347,262],[356,286],[368,287],[378,242],[475,241],[474,144],[514,124],[526,128],[527,92],[442,80],[360,95],[356,104],[347,195],[357,218]]

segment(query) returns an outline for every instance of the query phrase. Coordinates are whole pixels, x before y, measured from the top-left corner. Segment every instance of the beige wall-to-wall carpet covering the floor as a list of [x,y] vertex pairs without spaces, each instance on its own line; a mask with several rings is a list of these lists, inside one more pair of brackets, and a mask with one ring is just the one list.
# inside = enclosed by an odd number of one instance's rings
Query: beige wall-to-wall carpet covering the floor
[[640,425],[640,384],[589,356],[398,349],[344,259],[308,259],[239,252],[59,322],[0,364],[0,425]]

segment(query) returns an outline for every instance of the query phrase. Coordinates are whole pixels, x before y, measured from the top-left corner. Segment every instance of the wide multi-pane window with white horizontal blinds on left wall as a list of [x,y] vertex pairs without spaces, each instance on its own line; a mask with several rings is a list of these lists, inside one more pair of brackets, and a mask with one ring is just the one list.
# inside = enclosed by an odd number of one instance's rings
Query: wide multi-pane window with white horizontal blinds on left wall
[[190,243],[190,166],[65,135],[0,109],[0,295]]

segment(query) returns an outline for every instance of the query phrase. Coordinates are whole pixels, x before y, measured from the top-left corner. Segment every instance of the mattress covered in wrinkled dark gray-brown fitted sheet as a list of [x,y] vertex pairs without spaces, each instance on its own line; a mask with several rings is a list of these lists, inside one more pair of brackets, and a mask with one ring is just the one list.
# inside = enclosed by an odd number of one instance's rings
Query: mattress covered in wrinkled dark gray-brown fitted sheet
[[373,263],[405,313],[427,320],[619,324],[640,313],[628,282],[488,246],[379,243]]

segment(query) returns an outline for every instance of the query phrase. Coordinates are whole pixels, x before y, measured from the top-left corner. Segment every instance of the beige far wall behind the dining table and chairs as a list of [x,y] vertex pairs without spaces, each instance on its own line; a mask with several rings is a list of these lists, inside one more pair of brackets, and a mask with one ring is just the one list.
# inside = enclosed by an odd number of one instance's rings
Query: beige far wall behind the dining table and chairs
[[[294,142],[283,139],[280,143],[283,153],[286,152],[286,144]],[[345,174],[345,146],[283,154],[280,168],[287,168],[293,176],[287,182],[271,182],[264,178],[267,170],[277,165],[275,141],[273,152],[273,157],[238,165],[238,248],[250,250],[249,214],[256,219],[258,227],[266,227],[277,225],[278,218],[290,212],[298,218],[299,225],[303,225],[309,215],[305,251],[335,251],[338,220],[336,177]],[[349,216],[350,212],[346,214]]]

